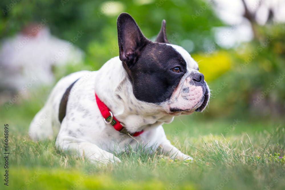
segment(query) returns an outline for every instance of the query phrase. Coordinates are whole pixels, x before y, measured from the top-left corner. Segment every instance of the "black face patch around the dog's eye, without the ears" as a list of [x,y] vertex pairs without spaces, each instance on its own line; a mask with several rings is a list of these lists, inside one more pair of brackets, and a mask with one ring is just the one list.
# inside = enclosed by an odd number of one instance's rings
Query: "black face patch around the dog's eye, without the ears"
[[[180,72],[173,71],[174,68],[179,68]],[[135,97],[149,103],[160,103],[170,98],[186,73],[187,65],[172,46],[150,42],[129,70]]]

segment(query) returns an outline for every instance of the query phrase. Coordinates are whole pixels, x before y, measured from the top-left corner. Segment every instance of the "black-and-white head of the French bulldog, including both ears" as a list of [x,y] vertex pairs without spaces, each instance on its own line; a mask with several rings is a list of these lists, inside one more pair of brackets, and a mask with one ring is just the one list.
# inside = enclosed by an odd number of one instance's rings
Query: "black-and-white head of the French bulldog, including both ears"
[[169,115],[205,109],[210,92],[204,75],[186,50],[169,44],[164,20],[155,42],[128,13],[119,15],[117,29],[119,57],[138,100],[161,105]]

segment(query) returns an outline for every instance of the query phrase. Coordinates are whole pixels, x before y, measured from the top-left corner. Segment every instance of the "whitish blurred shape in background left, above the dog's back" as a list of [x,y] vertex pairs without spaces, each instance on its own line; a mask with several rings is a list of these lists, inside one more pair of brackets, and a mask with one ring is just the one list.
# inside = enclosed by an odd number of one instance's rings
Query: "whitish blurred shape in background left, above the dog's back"
[[37,79],[35,85],[52,85],[54,65],[83,61],[83,51],[72,42],[58,39],[47,27],[38,26],[29,26],[15,37],[2,40],[0,90],[23,91],[32,77]]

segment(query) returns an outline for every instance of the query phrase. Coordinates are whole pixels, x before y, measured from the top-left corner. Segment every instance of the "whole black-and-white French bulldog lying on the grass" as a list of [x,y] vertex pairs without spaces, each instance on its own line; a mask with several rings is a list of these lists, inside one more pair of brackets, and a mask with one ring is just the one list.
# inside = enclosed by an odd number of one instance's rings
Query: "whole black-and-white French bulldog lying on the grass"
[[119,56],[98,71],[63,77],[29,128],[30,138],[55,138],[91,162],[120,162],[113,153],[126,145],[192,160],[166,138],[163,123],[201,112],[210,90],[198,64],[182,47],[169,44],[166,22],[152,42],[128,13],[117,18]]

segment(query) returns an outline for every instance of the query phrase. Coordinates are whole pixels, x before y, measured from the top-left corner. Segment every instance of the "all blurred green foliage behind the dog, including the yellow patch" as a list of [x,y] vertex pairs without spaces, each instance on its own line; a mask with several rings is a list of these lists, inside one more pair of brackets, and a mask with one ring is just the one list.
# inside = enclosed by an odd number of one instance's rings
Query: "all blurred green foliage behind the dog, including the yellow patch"
[[[116,18],[119,13],[131,14],[143,34],[152,40],[165,19],[168,39],[190,51],[213,90],[209,107],[204,115],[199,114],[201,117],[259,119],[260,116],[282,117],[285,113],[285,80],[280,80],[274,88],[270,86],[285,70],[284,24],[254,24],[253,41],[230,50],[217,47],[205,56],[208,51],[205,44],[215,42],[213,27],[225,25],[206,1],[3,0],[0,8],[3,12],[0,14],[0,39],[13,36],[28,24],[38,24],[42,19],[48,21],[54,36],[64,40],[70,40],[78,31],[83,32],[75,45],[84,50],[86,60],[84,65],[68,67],[68,73],[97,70],[118,55]],[[198,17],[193,17],[197,11],[200,11]],[[272,36],[272,41],[263,47],[268,36]],[[254,55],[255,52],[258,54]],[[56,73],[58,79],[68,74],[59,73]],[[223,84],[226,86],[221,89]],[[270,92],[255,103],[268,88]]]

